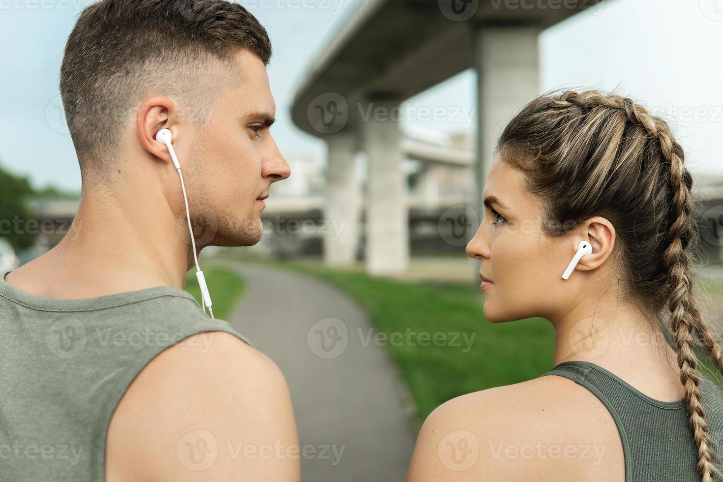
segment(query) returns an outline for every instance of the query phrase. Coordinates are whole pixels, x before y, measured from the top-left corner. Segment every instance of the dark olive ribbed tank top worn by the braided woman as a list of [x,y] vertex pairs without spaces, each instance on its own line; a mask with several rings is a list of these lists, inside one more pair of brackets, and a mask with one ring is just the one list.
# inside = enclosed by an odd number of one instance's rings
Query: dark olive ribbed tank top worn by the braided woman
[[[625,455],[625,482],[699,482],[698,451],[685,400],[663,402],[588,361],[565,361],[541,376],[559,375],[592,392],[617,425]],[[723,392],[701,376],[703,408],[715,465],[723,457]]]

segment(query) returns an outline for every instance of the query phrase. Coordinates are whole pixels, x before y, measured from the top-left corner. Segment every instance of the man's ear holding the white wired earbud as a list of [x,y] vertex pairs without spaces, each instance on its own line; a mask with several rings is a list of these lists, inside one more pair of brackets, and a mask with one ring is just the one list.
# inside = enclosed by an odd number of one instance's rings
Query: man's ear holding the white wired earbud
[[161,129],[170,129],[174,133],[174,145],[179,142],[181,129],[178,124],[173,123],[173,113],[176,109],[173,100],[156,96],[147,98],[138,108],[136,116],[136,132],[140,145],[155,158],[171,165],[173,165],[171,154],[166,145],[155,140],[155,136]]

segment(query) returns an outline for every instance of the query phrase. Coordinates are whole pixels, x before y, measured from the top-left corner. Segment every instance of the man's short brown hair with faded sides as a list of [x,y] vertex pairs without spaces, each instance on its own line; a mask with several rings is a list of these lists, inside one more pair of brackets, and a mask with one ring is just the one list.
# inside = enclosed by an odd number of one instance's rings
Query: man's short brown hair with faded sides
[[102,0],[84,9],[60,72],[82,176],[102,178],[112,168],[120,128],[134,119],[143,96],[208,106],[220,93],[218,76],[239,74],[231,59],[241,50],[268,65],[266,30],[226,0]]

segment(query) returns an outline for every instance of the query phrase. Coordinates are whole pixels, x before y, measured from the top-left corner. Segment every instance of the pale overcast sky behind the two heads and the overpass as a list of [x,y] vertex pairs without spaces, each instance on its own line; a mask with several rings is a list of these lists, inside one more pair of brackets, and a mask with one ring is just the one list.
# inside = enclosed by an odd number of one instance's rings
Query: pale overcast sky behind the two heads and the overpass
[[[271,36],[269,76],[278,105],[273,133],[288,157],[325,155],[322,142],[291,123],[289,107],[309,62],[358,1],[241,1]],[[61,118],[58,72],[74,20],[90,3],[0,0],[0,163],[38,186],[80,189]],[[693,171],[723,175],[721,46],[721,0],[607,0],[542,33],[540,87],[617,88],[632,95],[672,122]],[[406,108],[453,105],[461,113],[455,122],[410,123],[445,131],[473,127],[474,89],[468,71],[417,95]]]

